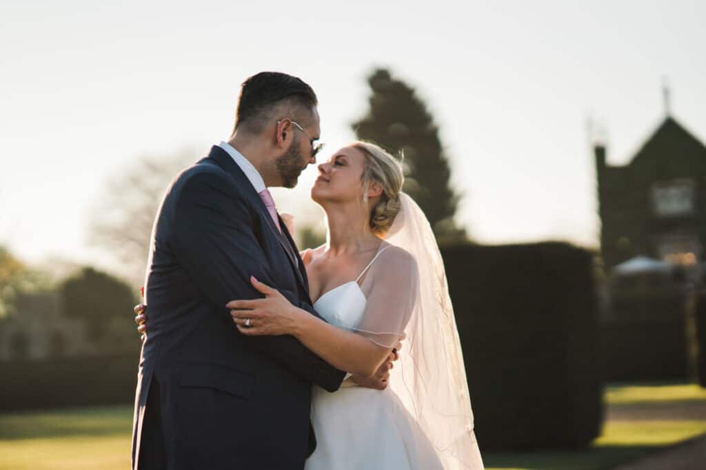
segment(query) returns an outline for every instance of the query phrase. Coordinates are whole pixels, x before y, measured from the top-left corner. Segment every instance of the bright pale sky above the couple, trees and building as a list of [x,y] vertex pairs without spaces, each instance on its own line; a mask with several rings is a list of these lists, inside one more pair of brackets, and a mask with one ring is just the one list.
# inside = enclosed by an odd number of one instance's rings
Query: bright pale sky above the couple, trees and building
[[[205,154],[261,70],[313,86],[329,151],[354,137],[374,66],[417,87],[479,242],[596,246],[587,120],[625,163],[663,117],[664,76],[674,116],[706,140],[703,1],[413,4],[4,2],[0,243],[32,262],[98,262],[87,235],[105,183],[143,154]],[[275,192],[281,210],[318,218],[315,173]]]

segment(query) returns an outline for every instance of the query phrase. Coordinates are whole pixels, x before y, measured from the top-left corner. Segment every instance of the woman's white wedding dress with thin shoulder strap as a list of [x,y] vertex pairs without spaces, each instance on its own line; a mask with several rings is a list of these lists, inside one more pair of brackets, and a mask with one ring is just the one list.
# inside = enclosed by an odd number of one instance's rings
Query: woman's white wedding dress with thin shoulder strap
[[[388,247],[376,254],[361,276]],[[313,305],[318,314],[339,328],[356,328],[368,302],[358,284],[361,276],[325,292]],[[306,461],[306,470],[444,468],[424,431],[391,388],[363,388],[350,379],[334,393],[314,386],[311,408],[317,445]],[[475,468],[482,469],[482,463]]]

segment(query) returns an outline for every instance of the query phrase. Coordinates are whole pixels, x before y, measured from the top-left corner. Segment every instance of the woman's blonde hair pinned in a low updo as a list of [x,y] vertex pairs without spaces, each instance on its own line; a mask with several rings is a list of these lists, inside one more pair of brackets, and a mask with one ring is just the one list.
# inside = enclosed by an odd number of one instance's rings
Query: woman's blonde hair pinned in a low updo
[[[400,211],[400,192],[402,184],[405,183],[402,164],[376,144],[354,142],[351,147],[363,152],[365,156],[363,187],[367,188],[374,181],[383,188],[380,199],[371,208],[370,228],[376,235],[384,235],[390,230],[395,216]],[[364,194],[363,200],[367,204],[367,192]]]

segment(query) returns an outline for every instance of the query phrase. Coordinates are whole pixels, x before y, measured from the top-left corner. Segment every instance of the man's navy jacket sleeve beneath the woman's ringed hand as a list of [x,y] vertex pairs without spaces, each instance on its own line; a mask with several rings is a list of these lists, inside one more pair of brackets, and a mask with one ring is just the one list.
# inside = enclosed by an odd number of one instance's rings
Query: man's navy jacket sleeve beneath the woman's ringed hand
[[[249,208],[223,175],[204,171],[184,183],[174,212],[174,245],[177,259],[193,282],[228,319],[225,305],[230,300],[262,297],[250,276],[276,287],[272,267],[253,232]],[[294,301],[292,292],[281,292]],[[299,307],[316,314],[309,304],[299,303]],[[244,339],[321,388],[333,392],[340,387],[345,372],[294,337]]]

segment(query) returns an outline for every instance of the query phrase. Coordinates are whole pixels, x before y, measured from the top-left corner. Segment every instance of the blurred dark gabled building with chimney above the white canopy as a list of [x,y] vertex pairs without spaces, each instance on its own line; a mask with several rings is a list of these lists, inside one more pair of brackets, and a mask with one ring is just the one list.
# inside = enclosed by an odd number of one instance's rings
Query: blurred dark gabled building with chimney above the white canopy
[[610,269],[635,256],[697,268],[706,247],[706,147],[667,113],[625,166],[594,146],[601,249]]

